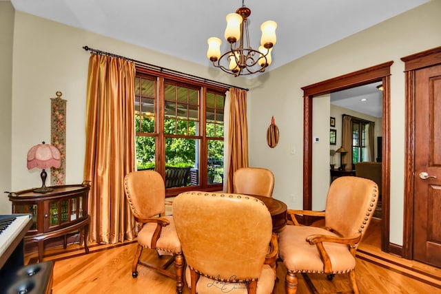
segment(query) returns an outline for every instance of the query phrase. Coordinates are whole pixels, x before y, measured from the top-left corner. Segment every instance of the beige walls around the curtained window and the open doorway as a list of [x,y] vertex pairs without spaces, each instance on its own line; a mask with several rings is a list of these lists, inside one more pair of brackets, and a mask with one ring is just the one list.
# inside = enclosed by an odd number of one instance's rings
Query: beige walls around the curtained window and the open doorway
[[[371,65],[391,68],[391,242],[402,244],[404,158],[404,65],[400,57],[441,45],[441,1],[431,1],[394,19],[334,43],[257,78],[233,78],[220,70],[129,45],[53,21],[17,12],[12,69],[11,189],[41,185],[38,170],[28,171],[25,154],[50,141],[50,98],[68,100],[66,182],[83,180],[85,82],[88,56],[81,47],[113,52],[146,63],[249,87],[250,165],[276,176],[274,197],[302,207],[302,91],[300,87]],[[276,55],[274,56],[276,58]],[[266,143],[271,116],[280,129],[278,146]],[[329,109],[328,114],[329,116]],[[3,130],[3,127],[1,127]],[[325,156],[329,160],[329,156]],[[0,167],[3,173],[2,167]],[[3,187],[0,187],[3,189]],[[0,198],[0,205],[8,202]],[[8,204],[9,205],[9,204]]]

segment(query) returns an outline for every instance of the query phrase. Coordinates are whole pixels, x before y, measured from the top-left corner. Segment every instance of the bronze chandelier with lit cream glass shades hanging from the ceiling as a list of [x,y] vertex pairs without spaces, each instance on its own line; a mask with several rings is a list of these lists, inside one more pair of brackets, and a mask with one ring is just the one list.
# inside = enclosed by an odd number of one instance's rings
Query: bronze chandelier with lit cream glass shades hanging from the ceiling
[[262,36],[260,37],[260,47],[254,50],[249,45],[248,17],[251,10],[245,7],[242,0],[242,7],[236,13],[227,15],[227,28],[225,29],[225,40],[230,45],[230,49],[220,54],[219,38],[211,37],[208,39],[207,57],[215,67],[219,67],[228,74],[234,76],[255,74],[265,72],[265,68],[271,64],[271,51],[276,45],[275,21],[265,21],[260,25]]

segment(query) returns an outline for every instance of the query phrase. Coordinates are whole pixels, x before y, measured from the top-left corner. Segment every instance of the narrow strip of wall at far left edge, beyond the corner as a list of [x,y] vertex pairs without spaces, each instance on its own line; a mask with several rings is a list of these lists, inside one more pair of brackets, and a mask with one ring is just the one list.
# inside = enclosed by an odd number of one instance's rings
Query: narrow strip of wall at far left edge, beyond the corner
[[[0,1],[0,193],[11,190],[12,165],[12,39],[14,8]],[[0,197],[0,215],[11,213],[6,194]]]

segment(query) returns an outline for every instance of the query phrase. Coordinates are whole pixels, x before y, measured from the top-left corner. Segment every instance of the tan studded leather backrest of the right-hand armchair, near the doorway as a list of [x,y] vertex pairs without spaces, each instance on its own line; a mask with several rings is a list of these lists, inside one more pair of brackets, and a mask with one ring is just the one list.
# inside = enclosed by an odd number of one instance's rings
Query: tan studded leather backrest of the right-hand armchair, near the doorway
[[344,176],[329,187],[325,226],[344,237],[364,235],[378,200],[378,187],[366,178]]

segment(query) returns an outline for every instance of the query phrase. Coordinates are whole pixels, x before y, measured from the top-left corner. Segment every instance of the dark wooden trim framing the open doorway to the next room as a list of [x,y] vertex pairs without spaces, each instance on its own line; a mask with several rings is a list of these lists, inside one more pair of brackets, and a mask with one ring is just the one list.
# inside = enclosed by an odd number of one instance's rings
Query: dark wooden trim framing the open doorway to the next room
[[382,251],[389,252],[390,74],[393,61],[302,87],[303,90],[303,209],[312,209],[313,98],[382,81]]

